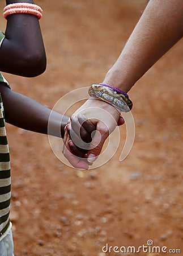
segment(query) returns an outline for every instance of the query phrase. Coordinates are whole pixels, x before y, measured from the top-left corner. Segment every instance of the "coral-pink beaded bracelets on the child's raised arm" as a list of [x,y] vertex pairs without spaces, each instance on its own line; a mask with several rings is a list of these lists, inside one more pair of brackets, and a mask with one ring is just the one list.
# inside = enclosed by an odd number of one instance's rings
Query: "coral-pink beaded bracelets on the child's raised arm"
[[40,6],[33,3],[11,3],[7,5],[3,10],[3,17],[7,19],[8,15],[17,13],[33,14],[38,19],[42,17],[42,9]]

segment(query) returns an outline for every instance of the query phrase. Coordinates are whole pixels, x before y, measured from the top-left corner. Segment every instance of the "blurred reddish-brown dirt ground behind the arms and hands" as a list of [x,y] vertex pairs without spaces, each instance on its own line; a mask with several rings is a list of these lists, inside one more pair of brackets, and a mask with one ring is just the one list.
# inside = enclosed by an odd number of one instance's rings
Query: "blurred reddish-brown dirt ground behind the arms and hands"
[[[44,9],[46,72],[34,79],[5,76],[12,89],[49,108],[65,93],[103,80],[146,5],[35,2]],[[131,89],[136,135],[124,162],[117,151],[104,166],[80,172],[56,158],[46,135],[7,125],[16,256],[133,255],[103,253],[102,247],[148,240],[183,253],[182,63],[181,41]]]

